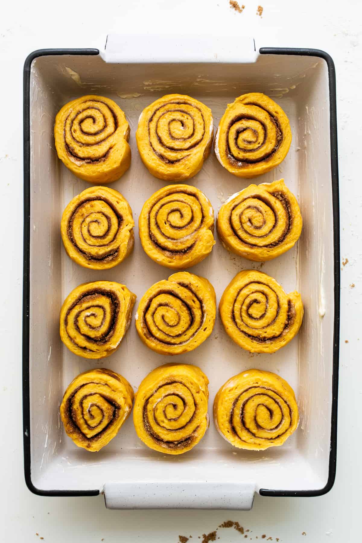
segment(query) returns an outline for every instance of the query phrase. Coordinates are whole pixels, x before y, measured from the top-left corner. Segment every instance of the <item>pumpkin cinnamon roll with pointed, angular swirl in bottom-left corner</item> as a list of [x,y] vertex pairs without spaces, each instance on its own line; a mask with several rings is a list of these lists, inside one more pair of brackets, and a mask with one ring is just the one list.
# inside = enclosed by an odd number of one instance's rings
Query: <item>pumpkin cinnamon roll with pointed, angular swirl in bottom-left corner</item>
[[75,445],[99,451],[130,415],[134,391],[122,375],[94,369],[75,377],[60,405],[65,431]]

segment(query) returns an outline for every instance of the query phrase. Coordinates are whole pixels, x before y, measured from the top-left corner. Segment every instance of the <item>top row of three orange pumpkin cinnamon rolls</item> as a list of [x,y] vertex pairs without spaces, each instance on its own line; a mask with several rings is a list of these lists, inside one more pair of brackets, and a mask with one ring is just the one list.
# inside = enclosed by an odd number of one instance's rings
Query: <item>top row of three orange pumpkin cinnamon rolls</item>
[[[167,94],[142,111],[136,140],[150,173],[172,181],[198,173],[213,141],[221,165],[245,178],[280,164],[291,143],[287,115],[259,92],[228,104],[213,135],[211,109],[190,96]],[[55,118],[54,136],[59,158],[81,179],[105,184],[130,167],[129,123],[110,98],[89,94],[65,104]]]

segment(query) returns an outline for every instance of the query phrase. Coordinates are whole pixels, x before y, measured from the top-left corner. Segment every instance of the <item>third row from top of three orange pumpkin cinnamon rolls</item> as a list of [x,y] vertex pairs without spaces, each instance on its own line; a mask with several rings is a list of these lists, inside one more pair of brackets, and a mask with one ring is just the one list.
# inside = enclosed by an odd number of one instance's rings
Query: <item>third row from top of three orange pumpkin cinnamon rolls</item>
[[[75,288],[63,302],[60,337],[76,355],[100,359],[122,342],[136,295],[115,281]],[[303,319],[301,295],[285,293],[258,270],[240,271],[226,287],[219,312],[228,336],[249,352],[272,353],[290,342]],[[212,333],[216,297],[204,277],[179,271],[158,281],[142,296],[135,315],[142,342],[161,355],[196,349]]]

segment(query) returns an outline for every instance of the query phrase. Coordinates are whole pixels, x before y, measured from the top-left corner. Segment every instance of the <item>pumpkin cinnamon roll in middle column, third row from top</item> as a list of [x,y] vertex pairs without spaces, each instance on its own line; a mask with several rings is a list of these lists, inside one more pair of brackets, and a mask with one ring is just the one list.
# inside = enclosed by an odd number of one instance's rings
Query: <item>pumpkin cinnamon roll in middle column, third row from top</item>
[[211,283],[179,271],[158,281],[139,302],[136,329],[143,343],[161,355],[196,349],[211,334],[216,316]]

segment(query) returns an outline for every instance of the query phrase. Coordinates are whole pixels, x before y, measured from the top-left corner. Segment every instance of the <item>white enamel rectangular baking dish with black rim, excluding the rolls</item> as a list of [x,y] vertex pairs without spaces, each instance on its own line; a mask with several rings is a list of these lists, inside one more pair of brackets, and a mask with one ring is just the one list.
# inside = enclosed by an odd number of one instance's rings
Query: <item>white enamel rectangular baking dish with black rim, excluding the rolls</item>
[[[249,509],[255,492],[315,496],[333,485],[338,390],[339,216],[335,80],[332,59],[312,49],[257,49],[253,40],[188,37],[125,39],[109,36],[106,48],[40,50],[24,67],[24,464],[30,490],[42,495],[97,495],[110,508]],[[177,47],[175,47],[177,43]],[[171,45],[170,45],[171,44]],[[125,283],[138,301],[171,272],[152,262],[138,238],[144,201],[166,185],[139,158],[135,131],[143,108],[166,93],[190,94],[208,105],[215,127],[226,104],[245,92],[264,92],[287,113],[293,142],[286,159],[253,182],[284,178],[299,199],[303,232],[295,248],[263,271],[304,302],[298,336],[274,355],[250,355],[226,335],[217,318],[212,336],[173,362],[200,365],[214,395],[229,377],[249,368],[284,377],[294,388],[300,425],[282,447],[263,452],[234,449],[215,430],[178,457],[163,456],[137,438],[132,417],[98,453],[76,447],[62,428],[59,404],[73,377],[92,367],[123,374],[135,390],[158,365],[170,362],[139,340],[134,322],[117,353],[103,362],[69,352],[59,337],[62,301],[77,285],[99,279]],[[111,186],[128,199],[135,250],[118,267],[86,270],[72,262],[60,238],[66,204],[86,187],[56,156],[56,112],[69,100],[96,93],[115,100],[131,127],[131,168]],[[215,214],[234,192],[252,181],[223,169],[214,153],[189,184],[211,200]],[[213,284],[217,301],[238,271],[260,269],[227,252],[220,241],[190,271]],[[169,272],[169,273],[168,273]],[[136,308],[137,308],[136,301]]]

